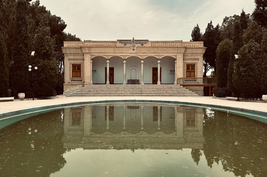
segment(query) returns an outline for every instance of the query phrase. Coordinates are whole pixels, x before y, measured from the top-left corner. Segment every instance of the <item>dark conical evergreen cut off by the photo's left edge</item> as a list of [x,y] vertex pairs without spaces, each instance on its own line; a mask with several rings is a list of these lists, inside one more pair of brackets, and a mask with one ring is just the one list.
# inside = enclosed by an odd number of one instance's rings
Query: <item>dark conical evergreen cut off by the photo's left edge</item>
[[7,57],[7,49],[4,38],[0,33],[0,97],[5,96],[5,92],[9,88],[9,64]]

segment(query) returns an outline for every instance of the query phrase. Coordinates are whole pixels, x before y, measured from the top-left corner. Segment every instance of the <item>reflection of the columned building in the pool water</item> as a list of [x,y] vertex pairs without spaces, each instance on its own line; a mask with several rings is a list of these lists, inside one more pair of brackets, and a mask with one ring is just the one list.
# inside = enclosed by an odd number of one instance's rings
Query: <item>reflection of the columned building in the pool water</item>
[[151,104],[64,108],[62,142],[70,149],[203,149],[203,111]]

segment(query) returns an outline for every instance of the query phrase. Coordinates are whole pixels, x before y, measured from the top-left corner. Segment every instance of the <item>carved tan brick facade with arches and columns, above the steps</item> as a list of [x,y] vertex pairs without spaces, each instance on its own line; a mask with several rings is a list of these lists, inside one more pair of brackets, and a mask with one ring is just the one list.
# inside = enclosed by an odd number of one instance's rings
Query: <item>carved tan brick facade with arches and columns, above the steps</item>
[[[114,68],[115,84],[127,83],[122,81],[122,78],[125,78],[125,75],[128,76],[128,79],[130,78],[130,67],[137,68],[137,78],[139,76],[139,80],[143,84],[152,84],[152,76],[150,78],[147,75],[152,75],[152,67],[159,68],[159,66],[162,69],[161,82],[163,84],[176,84],[177,78],[185,77],[186,64],[195,64],[195,77],[202,77],[205,50],[203,42],[183,42],[180,40],[64,42],[64,47],[62,47],[64,53],[64,94],[73,92],[83,85],[106,84],[103,80],[105,79],[104,68],[108,65]],[[143,70],[141,70],[140,59],[144,61],[142,63]],[[110,63],[107,64],[105,60]],[[124,65],[123,61],[126,61],[126,70],[128,69],[126,74],[124,68],[121,67]],[[72,77],[72,64],[81,64],[81,78]],[[141,74],[144,75],[145,79],[141,78]],[[160,83],[158,82],[158,84]]]

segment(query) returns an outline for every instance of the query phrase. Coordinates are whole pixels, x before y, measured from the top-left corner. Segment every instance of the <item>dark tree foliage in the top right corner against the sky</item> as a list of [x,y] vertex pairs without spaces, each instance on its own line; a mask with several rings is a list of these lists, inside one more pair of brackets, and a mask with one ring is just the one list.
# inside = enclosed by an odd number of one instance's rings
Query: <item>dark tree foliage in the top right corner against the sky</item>
[[267,28],[267,1],[266,0],[254,0],[256,7],[252,13],[254,21],[258,25]]

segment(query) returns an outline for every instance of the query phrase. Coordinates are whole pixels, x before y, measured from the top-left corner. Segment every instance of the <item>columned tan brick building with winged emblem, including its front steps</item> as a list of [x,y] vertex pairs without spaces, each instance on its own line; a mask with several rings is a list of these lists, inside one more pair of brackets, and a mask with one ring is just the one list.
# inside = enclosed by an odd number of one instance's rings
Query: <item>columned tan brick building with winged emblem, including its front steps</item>
[[64,95],[203,96],[205,50],[182,40],[65,41]]

